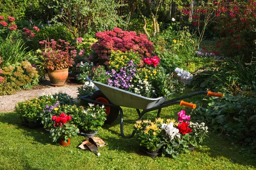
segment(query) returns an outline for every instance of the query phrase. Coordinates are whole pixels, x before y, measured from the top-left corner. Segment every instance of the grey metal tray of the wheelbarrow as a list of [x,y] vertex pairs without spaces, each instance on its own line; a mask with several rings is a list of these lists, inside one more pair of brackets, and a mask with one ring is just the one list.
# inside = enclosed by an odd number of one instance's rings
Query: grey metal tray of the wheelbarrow
[[[90,80],[92,81],[92,80]],[[92,81],[94,85],[110,100],[113,105],[135,109],[148,109],[166,101],[166,97],[148,98],[119,88]]]

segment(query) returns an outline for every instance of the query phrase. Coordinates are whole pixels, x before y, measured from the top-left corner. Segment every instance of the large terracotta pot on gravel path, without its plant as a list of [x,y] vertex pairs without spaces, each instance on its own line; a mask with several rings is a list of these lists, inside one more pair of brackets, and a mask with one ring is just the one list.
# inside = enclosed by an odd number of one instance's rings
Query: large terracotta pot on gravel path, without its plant
[[51,80],[51,85],[55,87],[61,87],[65,85],[68,76],[68,68],[62,70],[49,70],[48,76]]

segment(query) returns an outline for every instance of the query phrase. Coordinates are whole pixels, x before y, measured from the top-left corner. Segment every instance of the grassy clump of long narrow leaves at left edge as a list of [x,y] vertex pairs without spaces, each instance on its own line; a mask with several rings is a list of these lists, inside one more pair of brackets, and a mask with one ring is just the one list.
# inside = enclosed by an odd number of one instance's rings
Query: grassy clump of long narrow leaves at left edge
[[23,62],[28,56],[26,48],[22,39],[13,40],[11,37],[7,37],[5,40],[0,39],[0,56],[2,58],[0,68]]

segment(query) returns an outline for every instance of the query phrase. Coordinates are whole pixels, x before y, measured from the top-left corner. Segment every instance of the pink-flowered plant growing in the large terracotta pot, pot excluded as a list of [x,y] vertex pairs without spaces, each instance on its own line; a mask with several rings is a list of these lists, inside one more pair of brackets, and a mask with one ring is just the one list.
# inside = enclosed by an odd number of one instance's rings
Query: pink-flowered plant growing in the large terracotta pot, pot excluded
[[39,42],[41,45],[45,45],[42,55],[44,57],[45,66],[49,70],[69,68],[74,63],[76,50],[71,50],[69,42],[65,42],[65,40],[59,41],[60,44],[53,39],[51,42],[47,42],[46,40]]

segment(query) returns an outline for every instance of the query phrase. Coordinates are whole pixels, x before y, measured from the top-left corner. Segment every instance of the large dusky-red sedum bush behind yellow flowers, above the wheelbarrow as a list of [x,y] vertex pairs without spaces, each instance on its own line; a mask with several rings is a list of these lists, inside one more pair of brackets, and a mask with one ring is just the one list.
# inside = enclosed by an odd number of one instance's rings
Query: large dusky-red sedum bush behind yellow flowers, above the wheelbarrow
[[98,42],[92,45],[95,54],[91,54],[89,59],[98,64],[108,65],[108,60],[113,51],[137,51],[144,61],[144,56],[151,57],[154,50],[153,44],[145,34],[138,34],[134,31],[122,31],[114,28],[112,31],[96,33]]

